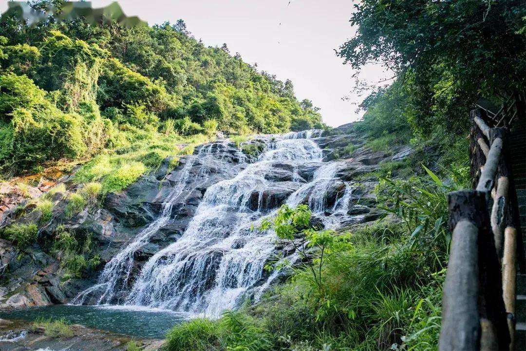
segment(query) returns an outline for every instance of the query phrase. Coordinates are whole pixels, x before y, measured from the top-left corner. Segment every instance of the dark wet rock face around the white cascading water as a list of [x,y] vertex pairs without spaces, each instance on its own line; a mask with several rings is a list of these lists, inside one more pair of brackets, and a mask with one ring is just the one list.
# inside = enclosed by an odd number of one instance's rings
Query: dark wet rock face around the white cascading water
[[[360,184],[355,182],[357,176],[376,171],[378,164],[382,161],[399,160],[411,154],[409,147],[402,147],[395,150],[394,156],[389,156],[381,152],[372,152],[363,147],[365,138],[352,134],[352,125],[344,125],[337,128],[337,134],[314,138],[313,141],[322,148],[323,162],[337,159],[341,167],[337,169],[334,177],[327,181],[327,186],[323,188],[322,212],[312,217],[311,224],[322,228],[326,221],[324,218],[334,219],[343,228],[352,227],[359,223],[366,223],[375,220],[382,215],[382,212],[375,209],[376,199],[373,189],[377,183],[375,177],[362,179]],[[267,141],[268,142],[268,141]],[[262,145],[265,141],[255,140],[248,144]],[[352,157],[347,159],[335,158],[339,149],[348,145],[356,147]],[[248,152],[248,148],[246,149]],[[250,149],[252,150],[252,149]],[[134,251],[134,266],[132,278],[140,272],[147,260],[158,253],[161,249],[177,242],[183,235],[190,221],[194,218],[199,204],[203,201],[206,190],[221,180],[232,179],[240,173],[250,162],[255,162],[260,153],[259,146],[254,148],[254,154],[244,154],[233,144],[213,143],[198,147],[195,155],[210,151],[220,151],[221,157],[203,162],[199,157],[192,160],[191,157],[183,157],[178,167],[168,172],[168,160],[154,172],[144,175],[136,183],[130,185],[123,192],[108,194],[102,207],[88,206],[73,218],[64,217],[66,206],[65,197],[67,194],[57,193],[52,197],[54,203],[53,217],[47,224],[40,225],[38,243],[28,247],[22,253],[7,240],[0,239],[0,308],[23,307],[33,305],[63,304],[69,302],[79,292],[96,283],[99,271],[89,270],[82,279],[64,280],[64,270],[60,269],[59,261],[52,256],[50,247],[46,246],[52,242],[56,235],[59,225],[63,225],[66,230],[76,233],[78,236],[85,236],[87,233],[92,238],[97,247],[97,253],[102,258],[102,266],[109,262],[119,253],[138,233],[162,214],[165,209],[164,204],[173,200],[174,189],[183,189],[177,195],[175,205],[169,208],[170,220],[161,226],[154,235],[151,235],[144,245]],[[189,165],[185,168],[185,166]],[[320,162],[305,162],[295,167],[287,163],[269,161],[267,169],[261,169],[260,176],[270,182],[265,188],[253,190],[246,200],[246,212],[270,213],[287,203],[290,195],[295,193],[302,185],[312,182],[319,176]],[[187,173],[185,173],[187,172]],[[181,179],[185,179],[181,183]],[[318,179],[318,178],[316,178]],[[75,189],[74,184],[67,183],[64,179],[69,192]],[[349,188],[351,193],[347,193]],[[14,191],[13,189],[4,189]],[[0,193],[3,190],[0,188]],[[319,189],[312,187],[300,203],[309,203],[312,192]],[[35,196],[42,194],[41,190],[35,190]],[[344,196],[348,194],[348,197]],[[1,204],[0,204],[1,205]],[[339,207],[345,207],[340,210]],[[345,205],[345,206],[343,206]],[[22,223],[41,220],[38,211],[31,211],[28,207],[26,213],[19,216],[14,211],[15,206],[5,205],[3,215],[0,212],[0,229],[6,225],[17,221]],[[231,218],[225,216],[223,221],[231,220],[234,223],[235,213]],[[323,217],[323,218],[322,218]],[[217,223],[216,223],[217,224]],[[215,223],[210,220],[209,225],[214,227]],[[218,227],[220,227],[218,225]],[[230,233],[222,233],[228,237]],[[301,244],[303,238],[297,238]],[[246,240],[237,239],[232,244],[232,248],[243,248]],[[284,256],[294,253],[294,246],[290,243],[279,243],[276,245],[276,253]],[[22,254],[22,255],[20,255]],[[208,255],[210,270],[206,274],[207,281],[199,285],[199,289],[210,288],[214,284],[215,269],[219,264],[224,253],[220,250],[210,252]],[[17,256],[22,257],[17,259]],[[189,264],[193,264],[189,262]],[[99,268],[100,269],[100,268]],[[212,272],[214,271],[214,272]],[[277,280],[284,278],[287,271],[280,273]],[[266,279],[268,274],[262,275],[261,279]],[[184,282],[185,277],[180,277]],[[233,278],[232,278],[233,279]],[[259,283],[255,283],[257,286]],[[180,283],[183,284],[183,283]],[[232,280],[231,285],[236,282]],[[170,288],[176,288],[171,286]],[[197,289],[197,287],[196,287]],[[196,292],[203,293],[203,292]],[[97,296],[93,296],[96,299]],[[117,297],[124,299],[124,295]]]

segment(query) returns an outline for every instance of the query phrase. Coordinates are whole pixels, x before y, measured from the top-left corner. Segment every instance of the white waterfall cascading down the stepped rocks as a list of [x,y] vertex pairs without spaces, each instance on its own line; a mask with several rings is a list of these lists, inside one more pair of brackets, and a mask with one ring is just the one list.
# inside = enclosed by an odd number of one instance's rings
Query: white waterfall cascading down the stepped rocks
[[[204,166],[193,171],[194,164],[206,165],[212,159],[215,162],[222,159],[214,154],[211,145],[201,147],[180,171],[178,183],[163,203],[160,216],[110,260],[98,284],[79,294],[73,303],[86,303],[87,296],[93,296],[94,292],[99,296],[97,304],[114,303],[117,294],[125,292],[126,305],[217,316],[234,308],[249,289],[254,289],[256,297],[260,296],[276,276],[268,277],[263,269],[275,252],[276,237],[271,231],[252,231],[252,225],[271,215],[282,203],[291,206],[308,203],[313,214],[325,217],[327,194],[335,184],[340,190],[333,199],[332,211],[347,212],[351,188],[335,178],[344,163],[321,161],[321,149],[309,139],[320,133],[261,136],[267,149],[256,162],[246,164],[247,159],[237,155],[240,168],[244,169],[233,174],[234,177],[208,186],[183,235],[151,256],[129,289],[136,250],[170,222],[173,206],[184,200],[188,178],[208,172]],[[223,145],[226,147],[227,143]],[[305,169],[310,169],[310,173]],[[328,227],[339,223],[335,219],[322,222]]]

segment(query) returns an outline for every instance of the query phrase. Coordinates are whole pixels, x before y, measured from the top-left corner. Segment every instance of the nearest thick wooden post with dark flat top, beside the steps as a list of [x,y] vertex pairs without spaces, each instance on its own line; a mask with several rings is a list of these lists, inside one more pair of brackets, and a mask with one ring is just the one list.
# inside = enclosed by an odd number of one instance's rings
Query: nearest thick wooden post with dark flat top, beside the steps
[[478,238],[486,211],[485,193],[464,190],[448,194],[453,233],[442,295],[439,350],[479,350]]

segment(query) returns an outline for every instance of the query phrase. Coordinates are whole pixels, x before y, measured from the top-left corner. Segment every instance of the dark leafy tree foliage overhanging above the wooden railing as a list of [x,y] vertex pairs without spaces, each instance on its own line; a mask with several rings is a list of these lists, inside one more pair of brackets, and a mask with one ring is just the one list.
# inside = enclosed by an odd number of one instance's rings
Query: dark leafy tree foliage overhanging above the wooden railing
[[459,135],[467,133],[468,111],[481,96],[502,102],[515,89],[524,92],[521,1],[367,0],[355,7],[350,22],[357,32],[340,57],[355,69],[382,62],[398,76],[382,94],[389,97],[369,107],[370,115],[382,115],[379,128],[392,118],[393,126],[409,122],[419,138],[439,126]]

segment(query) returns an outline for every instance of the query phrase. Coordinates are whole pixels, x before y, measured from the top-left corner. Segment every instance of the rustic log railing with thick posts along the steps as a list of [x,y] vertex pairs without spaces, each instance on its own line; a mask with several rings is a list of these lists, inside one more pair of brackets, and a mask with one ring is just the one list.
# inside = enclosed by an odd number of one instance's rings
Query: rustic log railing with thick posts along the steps
[[506,136],[523,111],[520,97],[510,101],[498,113],[471,111],[474,189],[448,194],[452,242],[440,351],[514,348],[515,280],[524,258]]

